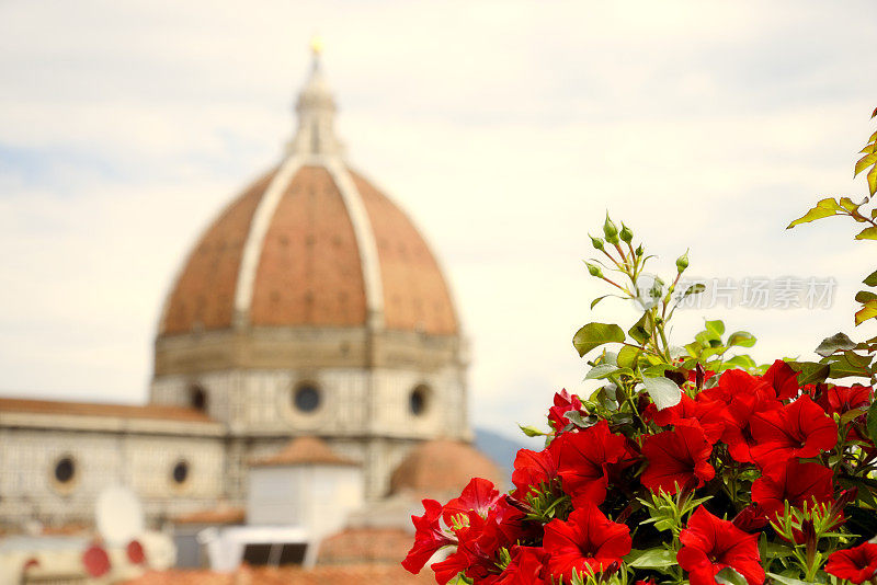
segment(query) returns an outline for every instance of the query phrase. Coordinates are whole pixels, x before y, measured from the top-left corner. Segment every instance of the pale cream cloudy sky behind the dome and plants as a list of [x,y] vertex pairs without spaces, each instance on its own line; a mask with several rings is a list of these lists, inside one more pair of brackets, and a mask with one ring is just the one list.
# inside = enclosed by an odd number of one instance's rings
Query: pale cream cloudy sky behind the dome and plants
[[[762,362],[855,337],[877,4],[776,2],[0,2],[0,394],[143,402],[171,278],[274,164],[319,35],[350,160],[436,251],[472,345],[476,425],[544,424],[588,393],[571,345],[633,307],[588,277],[606,211],[674,271],[833,278],[830,308],[677,313],[758,339]],[[806,302],[805,302],[806,305]]]

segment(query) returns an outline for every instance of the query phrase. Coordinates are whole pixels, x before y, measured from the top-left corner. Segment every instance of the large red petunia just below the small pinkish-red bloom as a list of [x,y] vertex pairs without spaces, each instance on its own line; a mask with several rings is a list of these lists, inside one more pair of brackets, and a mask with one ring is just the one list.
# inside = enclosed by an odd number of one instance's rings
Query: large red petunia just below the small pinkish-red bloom
[[588,500],[602,504],[606,500],[607,466],[627,456],[627,438],[610,432],[606,421],[556,438],[549,450],[557,460],[557,473],[563,490],[578,505]]

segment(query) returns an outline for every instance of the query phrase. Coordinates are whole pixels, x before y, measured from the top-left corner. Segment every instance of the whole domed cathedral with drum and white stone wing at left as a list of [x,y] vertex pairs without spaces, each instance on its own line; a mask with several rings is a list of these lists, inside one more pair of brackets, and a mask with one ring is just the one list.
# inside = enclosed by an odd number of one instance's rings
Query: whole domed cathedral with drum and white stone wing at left
[[320,57],[282,160],[203,232],[161,311],[144,406],[0,399],[0,524],[149,518],[247,497],[249,462],[321,438],[384,496],[412,447],[470,440],[467,349],[417,228],[351,168]]

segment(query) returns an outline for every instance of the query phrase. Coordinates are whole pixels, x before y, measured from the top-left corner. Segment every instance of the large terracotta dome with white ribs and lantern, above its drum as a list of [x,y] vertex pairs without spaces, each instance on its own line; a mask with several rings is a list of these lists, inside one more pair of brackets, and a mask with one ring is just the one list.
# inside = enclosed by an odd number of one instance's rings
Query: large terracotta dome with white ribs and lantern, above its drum
[[448,286],[418,229],[351,169],[319,55],[284,160],[203,232],[159,337],[231,328],[365,326],[456,335]]

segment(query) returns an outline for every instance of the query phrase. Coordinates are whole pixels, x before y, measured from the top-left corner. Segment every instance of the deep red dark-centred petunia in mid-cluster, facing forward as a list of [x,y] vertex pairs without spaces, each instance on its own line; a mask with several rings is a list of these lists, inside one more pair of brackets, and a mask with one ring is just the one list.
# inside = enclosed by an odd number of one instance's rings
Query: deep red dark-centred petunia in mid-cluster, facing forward
[[649,467],[639,480],[652,492],[662,490],[668,494],[676,493],[688,482],[696,482],[696,487],[701,487],[716,475],[709,464],[711,452],[713,446],[702,428],[679,426],[648,436],[642,443],[642,455]]

